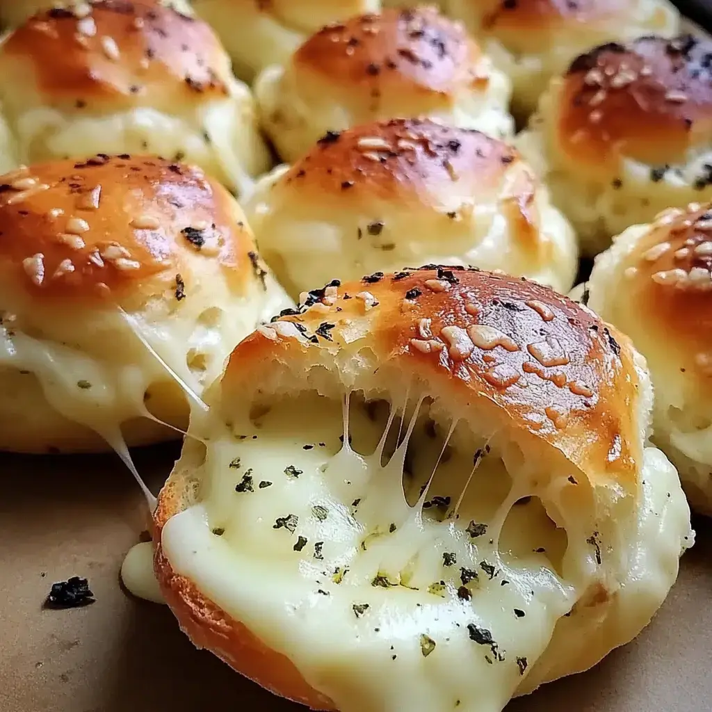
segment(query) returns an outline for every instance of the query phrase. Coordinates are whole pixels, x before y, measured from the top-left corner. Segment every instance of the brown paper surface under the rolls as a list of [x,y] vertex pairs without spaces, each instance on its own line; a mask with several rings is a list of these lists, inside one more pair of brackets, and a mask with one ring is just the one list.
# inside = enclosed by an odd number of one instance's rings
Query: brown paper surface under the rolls
[[[136,454],[154,491],[176,446]],[[183,636],[164,606],[119,583],[146,528],[130,474],[112,456],[0,457],[0,712],[296,712]],[[711,712],[712,522],[657,617],[587,674],[507,712]],[[88,577],[96,602],[43,609],[51,584]]]

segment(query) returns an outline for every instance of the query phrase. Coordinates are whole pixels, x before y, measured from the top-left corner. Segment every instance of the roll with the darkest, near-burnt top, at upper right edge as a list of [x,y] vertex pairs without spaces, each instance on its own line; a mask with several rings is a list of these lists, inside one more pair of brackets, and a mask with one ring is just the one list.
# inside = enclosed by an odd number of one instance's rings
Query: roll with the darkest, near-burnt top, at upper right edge
[[712,41],[644,37],[577,58],[517,145],[586,253],[712,195]]

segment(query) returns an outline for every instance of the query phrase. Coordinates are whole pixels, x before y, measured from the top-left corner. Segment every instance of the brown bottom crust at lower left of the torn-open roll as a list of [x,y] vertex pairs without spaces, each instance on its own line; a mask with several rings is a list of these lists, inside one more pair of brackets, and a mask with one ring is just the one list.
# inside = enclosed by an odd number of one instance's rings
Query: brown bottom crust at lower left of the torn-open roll
[[244,624],[208,600],[193,582],[174,572],[163,553],[161,533],[167,521],[187,506],[182,483],[173,476],[163,488],[154,514],[154,569],[183,632],[194,645],[212,651],[269,691],[314,710],[335,710],[332,701],[305,682],[292,661],[266,647]]

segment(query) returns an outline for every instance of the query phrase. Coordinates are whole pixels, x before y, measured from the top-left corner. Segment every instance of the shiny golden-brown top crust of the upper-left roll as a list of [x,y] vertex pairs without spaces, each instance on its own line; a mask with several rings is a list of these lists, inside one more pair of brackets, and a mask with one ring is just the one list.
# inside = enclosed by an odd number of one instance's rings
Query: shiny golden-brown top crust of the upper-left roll
[[78,111],[107,102],[192,105],[226,95],[230,81],[211,28],[150,0],[37,14],[2,47],[0,71],[16,76],[19,66],[29,67],[46,103]]

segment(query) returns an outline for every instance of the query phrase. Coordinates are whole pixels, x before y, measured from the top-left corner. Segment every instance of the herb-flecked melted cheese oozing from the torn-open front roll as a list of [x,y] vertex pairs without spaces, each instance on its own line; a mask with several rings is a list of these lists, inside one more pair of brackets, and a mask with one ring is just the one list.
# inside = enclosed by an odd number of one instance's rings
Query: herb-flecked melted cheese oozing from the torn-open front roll
[[[647,591],[653,577],[664,597],[689,534],[669,464],[672,499],[656,489],[632,525],[596,522],[570,506],[594,496],[585,483],[496,437],[473,472],[485,441],[460,426],[450,443],[430,437],[421,403],[405,422],[392,424],[392,411],[388,436],[370,407],[352,405],[342,429],[338,404],[323,397],[274,404],[251,428],[211,438],[192,473],[199,503],[162,533],[176,572],[343,712],[501,710],[588,587]],[[651,477],[663,464],[650,462]],[[610,506],[618,501],[634,506],[622,493]],[[674,562],[657,565],[659,545]],[[580,654],[577,632],[567,645]]]

